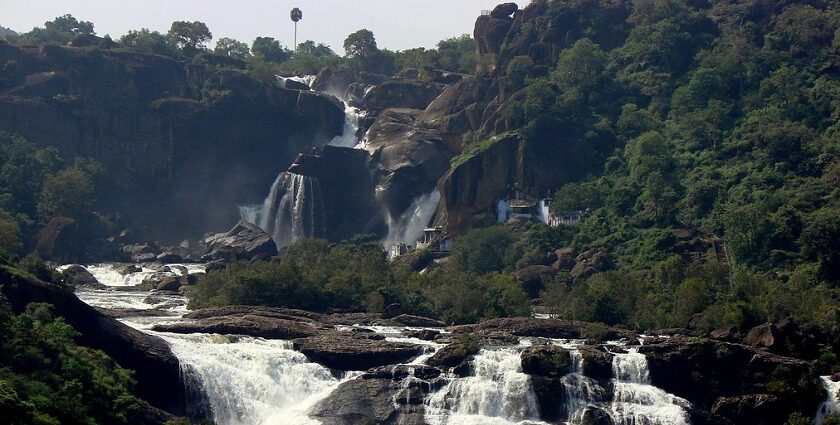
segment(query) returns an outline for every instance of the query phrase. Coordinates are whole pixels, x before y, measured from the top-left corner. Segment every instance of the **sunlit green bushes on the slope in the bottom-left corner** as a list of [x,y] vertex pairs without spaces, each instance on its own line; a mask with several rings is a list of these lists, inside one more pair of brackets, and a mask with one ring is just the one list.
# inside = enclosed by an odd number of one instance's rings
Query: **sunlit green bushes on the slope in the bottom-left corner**
[[0,407],[12,424],[135,423],[131,372],[77,345],[47,304],[15,315],[0,298]]

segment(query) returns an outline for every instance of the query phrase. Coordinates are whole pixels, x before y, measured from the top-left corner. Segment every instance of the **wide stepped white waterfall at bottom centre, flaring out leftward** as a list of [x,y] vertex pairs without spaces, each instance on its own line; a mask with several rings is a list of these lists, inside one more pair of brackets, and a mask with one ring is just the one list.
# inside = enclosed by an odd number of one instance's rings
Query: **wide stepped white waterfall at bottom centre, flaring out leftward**
[[473,360],[475,376],[458,378],[426,401],[426,420],[444,424],[538,423],[531,380],[522,373],[517,348],[483,349]]

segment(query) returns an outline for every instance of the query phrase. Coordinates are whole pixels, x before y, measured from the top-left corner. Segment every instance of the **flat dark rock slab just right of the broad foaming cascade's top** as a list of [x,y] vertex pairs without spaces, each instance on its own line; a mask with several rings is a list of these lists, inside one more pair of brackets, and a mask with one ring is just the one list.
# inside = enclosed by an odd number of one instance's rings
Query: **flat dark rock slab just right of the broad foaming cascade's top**
[[335,370],[365,370],[401,363],[423,352],[417,345],[369,339],[346,332],[296,339],[294,347],[310,361]]

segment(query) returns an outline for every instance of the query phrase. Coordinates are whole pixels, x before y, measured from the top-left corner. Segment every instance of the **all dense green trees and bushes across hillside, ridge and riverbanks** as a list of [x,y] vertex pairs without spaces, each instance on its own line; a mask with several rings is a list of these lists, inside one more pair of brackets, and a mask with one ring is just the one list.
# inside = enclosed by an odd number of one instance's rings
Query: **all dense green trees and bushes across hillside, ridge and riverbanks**
[[[375,235],[302,239],[273,261],[209,272],[189,289],[191,308],[381,312],[399,303],[407,313],[450,324],[537,311],[592,322],[593,338],[607,325],[745,334],[791,319],[826,343],[789,347],[789,354],[831,374],[840,372],[838,6],[554,0],[516,29],[525,37],[568,28],[566,39],[552,41],[560,48],[550,65],[536,52],[509,57],[495,70],[482,65],[469,35],[436,49],[394,52],[360,30],[339,56],[311,40],[288,49],[270,37],[250,46],[223,37],[210,49],[205,24],[175,22],[167,34],[140,29],[89,48],[218,67],[235,62],[265,85],[277,74],[325,67],[503,79],[519,93],[504,105],[505,134],[548,149],[573,147],[585,167],[551,195],[558,214],[585,211],[578,223],[497,224],[492,212],[479,214],[451,235],[443,260],[417,251],[390,261]],[[93,34],[92,23],[67,15],[3,37],[64,45]],[[515,47],[502,46],[502,56]],[[462,135],[452,167],[486,151],[495,136]],[[60,282],[29,255],[38,232],[66,217],[84,233],[114,233],[119,214],[97,208],[97,191],[107,184],[93,161],[66,163],[54,150],[0,134],[3,267]],[[82,258],[123,255],[105,238],[78,249]],[[580,254],[593,272],[561,267],[523,278],[529,267],[561,261],[560,251]],[[12,412],[12,423],[131,423],[140,403],[131,395],[131,373],[77,346],[73,336],[47,306],[14,314],[0,303],[0,410]],[[788,423],[809,421],[795,416]]]

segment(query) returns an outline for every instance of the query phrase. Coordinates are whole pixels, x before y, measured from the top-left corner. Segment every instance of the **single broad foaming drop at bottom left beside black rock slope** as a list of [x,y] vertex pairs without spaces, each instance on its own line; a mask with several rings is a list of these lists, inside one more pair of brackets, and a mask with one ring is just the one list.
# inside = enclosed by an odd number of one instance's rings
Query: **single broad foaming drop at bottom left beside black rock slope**
[[317,424],[308,408],[338,386],[291,343],[223,335],[159,334],[220,425]]

